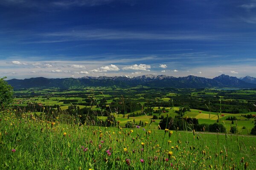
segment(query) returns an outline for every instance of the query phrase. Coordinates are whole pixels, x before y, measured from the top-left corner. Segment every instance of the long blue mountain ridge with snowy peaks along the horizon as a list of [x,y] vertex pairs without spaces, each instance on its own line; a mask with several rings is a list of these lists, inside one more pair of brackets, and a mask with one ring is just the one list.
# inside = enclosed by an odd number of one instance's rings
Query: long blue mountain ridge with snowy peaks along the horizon
[[[255,78],[254,78],[255,79]],[[143,75],[138,77],[81,77],[47,79],[44,77],[30,79],[10,79],[7,82],[15,89],[19,88],[84,88],[87,86],[117,86],[120,88],[144,85],[151,88],[256,88],[256,84],[245,82],[237,77],[220,75],[213,79],[205,77],[187,76],[172,77],[166,75]]]

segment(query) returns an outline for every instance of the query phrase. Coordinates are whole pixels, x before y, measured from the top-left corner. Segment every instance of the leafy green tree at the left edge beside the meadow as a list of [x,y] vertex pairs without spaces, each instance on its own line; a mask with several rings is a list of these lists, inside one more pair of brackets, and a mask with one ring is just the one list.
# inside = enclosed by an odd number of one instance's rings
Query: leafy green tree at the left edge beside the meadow
[[4,79],[0,78],[0,110],[12,103],[13,88]]

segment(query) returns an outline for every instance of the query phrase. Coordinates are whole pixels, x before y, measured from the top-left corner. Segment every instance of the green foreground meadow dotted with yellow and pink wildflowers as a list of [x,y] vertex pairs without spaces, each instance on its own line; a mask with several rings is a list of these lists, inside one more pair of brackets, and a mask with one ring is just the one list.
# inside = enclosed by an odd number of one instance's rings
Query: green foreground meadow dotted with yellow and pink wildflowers
[[[148,119],[141,116],[140,119]],[[149,119],[148,119],[149,120]],[[165,170],[256,167],[253,136],[48,122],[0,113],[3,170]],[[170,133],[172,132],[172,133]],[[170,135],[169,135],[170,134]]]

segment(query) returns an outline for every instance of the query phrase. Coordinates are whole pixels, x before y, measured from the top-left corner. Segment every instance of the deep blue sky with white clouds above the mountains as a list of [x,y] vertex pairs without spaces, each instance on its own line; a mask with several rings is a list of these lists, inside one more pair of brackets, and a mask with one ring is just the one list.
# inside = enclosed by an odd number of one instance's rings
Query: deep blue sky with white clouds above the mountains
[[256,77],[256,0],[0,0],[0,77]]

